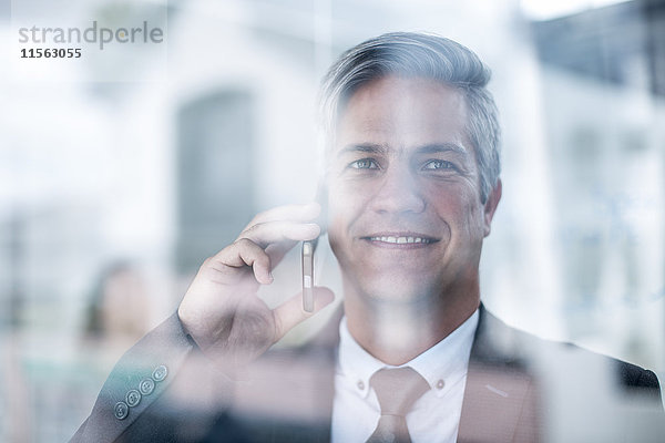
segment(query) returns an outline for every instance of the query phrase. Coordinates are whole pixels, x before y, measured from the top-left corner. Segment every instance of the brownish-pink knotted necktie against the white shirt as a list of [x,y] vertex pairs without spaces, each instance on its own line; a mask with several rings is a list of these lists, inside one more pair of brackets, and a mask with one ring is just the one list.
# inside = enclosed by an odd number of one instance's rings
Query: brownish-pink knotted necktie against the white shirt
[[430,389],[427,381],[407,367],[381,369],[371,377],[369,384],[379,399],[381,416],[367,443],[410,443],[405,416],[416,400]]

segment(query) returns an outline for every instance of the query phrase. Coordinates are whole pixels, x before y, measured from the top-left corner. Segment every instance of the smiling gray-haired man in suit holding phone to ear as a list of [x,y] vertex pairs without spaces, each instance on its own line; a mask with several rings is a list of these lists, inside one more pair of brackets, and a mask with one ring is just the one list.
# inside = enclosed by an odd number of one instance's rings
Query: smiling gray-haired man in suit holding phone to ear
[[[73,441],[649,441],[651,371],[550,343],[480,302],[501,198],[489,70],[412,33],[345,53],[324,83],[327,230],[344,317],[268,351],[309,315],[256,297],[319,204],[257,215],[132,348]],[[332,300],[315,288],[315,312]]]

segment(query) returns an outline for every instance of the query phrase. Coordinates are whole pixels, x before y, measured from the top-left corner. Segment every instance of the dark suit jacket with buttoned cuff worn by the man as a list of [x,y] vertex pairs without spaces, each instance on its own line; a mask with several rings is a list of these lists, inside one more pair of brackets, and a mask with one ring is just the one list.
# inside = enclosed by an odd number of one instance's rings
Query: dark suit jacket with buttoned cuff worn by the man
[[[174,315],[122,357],[72,442],[327,442],[340,317],[229,380]],[[459,442],[655,442],[663,419],[653,372],[538,339],[481,306]]]

